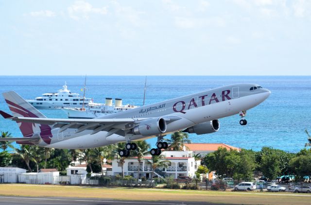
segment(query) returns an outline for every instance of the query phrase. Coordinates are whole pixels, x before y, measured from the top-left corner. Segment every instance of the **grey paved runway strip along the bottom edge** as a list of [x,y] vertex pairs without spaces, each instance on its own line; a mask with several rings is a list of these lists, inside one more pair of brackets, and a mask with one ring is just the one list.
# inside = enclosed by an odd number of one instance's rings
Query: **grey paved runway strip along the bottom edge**
[[122,201],[122,200],[110,200],[98,198],[0,196],[0,205],[215,205],[215,204],[208,204],[206,202]]

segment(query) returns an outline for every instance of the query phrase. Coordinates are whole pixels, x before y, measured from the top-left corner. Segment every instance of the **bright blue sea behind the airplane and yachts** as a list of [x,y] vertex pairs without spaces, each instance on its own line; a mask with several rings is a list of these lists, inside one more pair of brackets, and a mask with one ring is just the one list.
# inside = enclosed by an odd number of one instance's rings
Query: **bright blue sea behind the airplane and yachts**
[[[0,76],[0,92],[14,90],[25,99],[33,99],[56,92],[66,81],[71,92],[83,95],[84,80],[84,76]],[[258,83],[272,92],[266,101],[247,111],[247,126],[240,126],[238,115],[230,116],[220,119],[218,132],[190,134],[190,140],[256,151],[262,146],[289,152],[304,148],[307,142],[304,130],[311,132],[311,76],[148,76],[146,104],[244,82]],[[95,102],[104,102],[105,97],[122,98],[123,104],[141,106],[144,83],[144,76],[87,76],[86,97]],[[0,110],[10,113],[2,95]],[[67,118],[62,110],[41,111],[47,117]],[[15,122],[3,118],[0,130],[9,131],[14,137],[22,136]],[[148,142],[154,145],[156,140]]]

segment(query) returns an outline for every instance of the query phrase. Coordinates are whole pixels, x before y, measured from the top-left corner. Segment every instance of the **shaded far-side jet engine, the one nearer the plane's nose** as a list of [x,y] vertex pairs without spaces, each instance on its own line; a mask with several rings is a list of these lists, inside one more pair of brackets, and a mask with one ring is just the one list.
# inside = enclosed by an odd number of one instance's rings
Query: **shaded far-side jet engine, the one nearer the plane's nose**
[[219,130],[219,121],[212,120],[205,123],[200,123],[195,126],[190,126],[185,129],[183,132],[195,133],[197,135],[213,133]]

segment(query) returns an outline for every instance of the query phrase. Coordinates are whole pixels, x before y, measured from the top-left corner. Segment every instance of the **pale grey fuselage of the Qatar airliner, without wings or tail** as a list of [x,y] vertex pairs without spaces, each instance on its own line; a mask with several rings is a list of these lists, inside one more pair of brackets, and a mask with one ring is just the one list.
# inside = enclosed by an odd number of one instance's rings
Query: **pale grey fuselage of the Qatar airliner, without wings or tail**
[[[248,85],[250,86],[250,85]],[[237,86],[236,86],[237,87]],[[178,130],[184,130],[190,126],[194,126],[200,123],[204,123],[207,121],[219,119],[219,118],[224,118],[230,115],[238,114],[242,110],[249,110],[257,105],[259,105],[261,102],[263,102],[269,95],[270,91],[263,89],[263,91],[260,91],[260,93],[248,93],[248,88],[245,89],[243,92],[240,92],[239,95],[239,89],[238,93],[234,93],[233,89],[236,87],[230,87],[229,89],[232,89],[232,96],[230,97],[231,99],[225,99],[224,101],[219,100],[217,103],[211,103],[204,105],[203,100],[201,106],[192,106],[189,103],[189,106],[187,104],[186,108],[188,107],[189,109],[185,109],[183,112],[181,111],[174,111],[174,106],[169,106],[173,102],[180,102],[185,99],[195,99],[197,100],[197,104],[199,104],[200,99],[198,99],[198,96],[201,95],[202,93],[199,94],[194,94],[194,95],[187,95],[184,97],[180,98],[174,98],[172,100],[164,101],[161,102],[166,103],[167,106],[163,109],[158,109],[154,111],[150,111],[150,114],[148,114],[148,111],[146,112],[146,109],[143,110],[144,108],[147,108],[148,106],[132,109],[132,110],[126,110],[123,111],[122,113],[116,113],[116,114],[111,114],[107,115],[105,118],[138,118],[138,117],[165,117],[165,116],[179,116],[181,119],[176,120],[172,123],[170,123],[167,126],[166,132],[163,133],[163,135],[166,135],[168,133],[172,133]],[[206,91],[206,93],[212,93],[212,92],[220,92],[224,90],[223,88],[218,88],[214,90],[209,90]],[[240,87],[240,91],[242,91],[242,85]],[[221,93],[221,92],[220,92]],[[223,93],[224,94],[224,93]],[[235,95],[235,98],[234,98]],[[221,95],[219,95],[219,98],[221,99]],[[224,99],[224,95],[223,95]],[[186,100],[185,100],[186,101]],[[182,101],[183,102],[183,101]],[[189,102],[189,101],[188,101]],[[187,102],[187,103],[188,103]],[[201,102],[201,101],[200,101]],[[210,101],[209,101],[210,103]],[[159,104],[159,103],[158,103]],[[154,104],[155,105],[155,104]],[[157,104],[156,104],[157,105]],[[172,104],[173,105],[173,104]],[[176,105],[176,103],[174,104]],[[153,105],[151,105],[153,106]],[[150,107],[150,108],[155,108],[155,107]],[[141,111],[141,110],[143,111]],[[151,110],[151,109],[150,109]],[[179,109],[180,110],[180,109]],[[144,114],[141,114],[144,112]],[[141,116],[145,115],[145,116]],[[124,142],[126,141],[124,136],[120,136],[117,134],[112,134],[108,137],[105,137],[107,134],[107,131],[100,131],[96,134],[91,135],[91,130],[85,130],[80,133],[76,133],[76,129],[69,128],[63,132],[59,132],[60,128],[54,128],[52,129],[52,143],[51,144],[46,144],[44,142],[39,142],[37,145],[39,146],[44,146],[44,147],[53,147],[53,148],[66,148],[66,149],[85,149],[85,148],[93,148],[93,147],[100,147],[112,143],[117,143],[117,142]],[[154,136],[142,136],[142,135],[132,135],[131,140],[143,140],[147,138],[152,138]]]

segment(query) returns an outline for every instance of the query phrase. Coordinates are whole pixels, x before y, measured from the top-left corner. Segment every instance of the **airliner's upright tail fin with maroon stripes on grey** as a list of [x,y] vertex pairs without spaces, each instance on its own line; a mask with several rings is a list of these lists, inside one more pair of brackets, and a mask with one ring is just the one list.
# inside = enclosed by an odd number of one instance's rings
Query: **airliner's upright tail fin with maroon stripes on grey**
[[[39,110],[35,109],[34,106],[29,104],[26,100],[24,100],[21,96],[19,96],[14,91],[6,92],[2,94],[5,102],[8,104],[9,109],[12,112],[12,115],[14,117],[33,117],[33,118],[46,118],[44,114],[42,114]],[[4,118],[10,118],[12,115],[9,115],[5,112],[1,112],[1,115]],[[47,125],[39,125],[39,127],[36,124],[30,123],[30,122],[18,122],[19,129],[24,137],[32,137],[34,134],[34,131],[42,131],[43,129],[49,129],[51,130],[51,127]],[[47,127],[46,127],[47,126]]]

